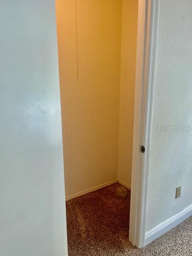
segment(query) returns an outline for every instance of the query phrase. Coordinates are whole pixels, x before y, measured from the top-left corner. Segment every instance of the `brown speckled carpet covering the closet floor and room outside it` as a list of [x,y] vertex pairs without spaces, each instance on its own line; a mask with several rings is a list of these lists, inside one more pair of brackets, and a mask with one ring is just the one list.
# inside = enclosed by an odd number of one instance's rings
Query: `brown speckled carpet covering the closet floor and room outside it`
[[137,249],[128,240],[130,190],[118,199],[116,183],[66,202],[69,256],[192,256],[192,217]]

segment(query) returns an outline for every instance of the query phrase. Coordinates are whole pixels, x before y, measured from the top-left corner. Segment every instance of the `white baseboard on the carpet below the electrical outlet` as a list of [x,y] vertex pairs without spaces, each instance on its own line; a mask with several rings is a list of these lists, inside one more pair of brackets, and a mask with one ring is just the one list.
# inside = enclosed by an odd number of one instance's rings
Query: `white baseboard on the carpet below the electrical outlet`
[[182,211],[178,212],[168,220],[160,223],[155,228],[152,228],[148,232],[145,233],[144,246],[155,240],[156,238],[162,236],[167,231],[171,230],[187,218],[192,215],[192,204]]

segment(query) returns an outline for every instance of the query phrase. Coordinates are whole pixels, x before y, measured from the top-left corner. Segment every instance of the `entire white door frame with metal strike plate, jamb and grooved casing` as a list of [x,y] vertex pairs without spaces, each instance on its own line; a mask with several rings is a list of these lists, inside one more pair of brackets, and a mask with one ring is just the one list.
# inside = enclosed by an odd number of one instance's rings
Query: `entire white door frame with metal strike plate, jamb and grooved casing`
[[[158,0],[139,0],[129,240],[145,246]],[[140,151],[140,146],[145,152]]]

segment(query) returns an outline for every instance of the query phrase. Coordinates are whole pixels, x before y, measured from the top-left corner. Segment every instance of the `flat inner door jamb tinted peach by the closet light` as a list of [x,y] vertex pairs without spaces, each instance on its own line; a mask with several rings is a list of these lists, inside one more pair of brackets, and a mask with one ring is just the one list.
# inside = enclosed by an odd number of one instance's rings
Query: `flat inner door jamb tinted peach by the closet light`
[[140,194],[138,179],[138,159],[140,155],[140,119],[142,105],[142,80],[143,80],[143,63],[144,63],[144,47],[145,47],[145,30],[146,30],[146,1],[138,2],[138,31],[137,31],[137,51],[136,51],[136,81],[135,81],[135,99],[134,99],[134,132],[133,132],[133,154],[132,154],[132,192],[130,205],[130,224],[129,224],[129,240],[133,246],[138,243],[138,211],[140,208]]

